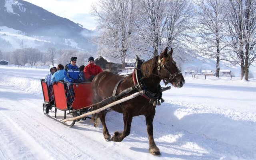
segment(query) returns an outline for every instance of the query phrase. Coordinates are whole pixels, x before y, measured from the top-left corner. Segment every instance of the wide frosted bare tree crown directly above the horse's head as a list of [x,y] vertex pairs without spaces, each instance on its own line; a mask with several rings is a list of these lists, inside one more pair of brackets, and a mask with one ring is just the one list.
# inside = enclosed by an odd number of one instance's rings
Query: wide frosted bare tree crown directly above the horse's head
[[[140,0],[136,21],[137,48],[156,56],[166,46],[187,49],[193,5],[190,0]],[[138,45],[140,44],[140,45]]]

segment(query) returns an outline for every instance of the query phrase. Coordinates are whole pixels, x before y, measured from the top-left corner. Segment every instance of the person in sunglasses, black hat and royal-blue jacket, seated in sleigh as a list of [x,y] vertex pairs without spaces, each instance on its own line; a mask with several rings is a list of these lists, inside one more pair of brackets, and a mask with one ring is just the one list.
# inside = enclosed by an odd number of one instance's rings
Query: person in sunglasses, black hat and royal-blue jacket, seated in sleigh
[[66,99],[67,103],[69,105],[72,104],[74,101],[74,89],[73,86],[75,83],[81,83],[84,80],[84,77],[82,76],[80,69],[78,66],[76,66],[76,59],[77,57],[71,57],[70,58],[70,64],[68,64],[65,67],[64,70],[64,81],[67,82],[67,87],[66,87]]

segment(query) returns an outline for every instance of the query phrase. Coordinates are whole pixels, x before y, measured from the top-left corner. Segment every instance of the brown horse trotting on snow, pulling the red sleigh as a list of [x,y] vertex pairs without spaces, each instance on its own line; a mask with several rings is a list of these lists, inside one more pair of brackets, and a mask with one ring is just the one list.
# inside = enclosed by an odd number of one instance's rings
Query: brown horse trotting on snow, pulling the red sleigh
[[[141,65],[140,71],[142,77],[140,82],[143,82],[142,85],[148,89],[147,92],[158,92],[160,87],[160,81],[162,79],[167,80],[174,87],[182,87],[185,83],[182,73],[177,68],[176,62],[174,62],[172,58],[172,48],[169,53],[167,52],[168,48],[166,48],[164,52],[162,52],[159,56],[155,56]],[[116,94],[119,94],[126,88],[134,86],[134,78],[132,74],[126,76],[124,79],[123,78],[124,76],[120,76],[112,72],[101,72],[100,74],[95,76],[92,81],[92,91],[94,93],[93,103],[100,102],[101,100],[112,96],[113,90],[118,82],[120,83],[116,89]],[[123,80],[120,81],[121,79]],[[136,90],[130,92],[129,94],[126,94],[122,98],[129,96],[135,92]],[[154,96],[152,96],[152,99],[154,101],[159,101],[161,96],[162,92],[160,91],[160,96],[158,96],[157,98],[154,98]],[[132,117],[144,115],[146,117],[146,125],[148,131],[149,152],[153,155],[160,156],[160,150],[156,146],[153,137],[153,119],[156,112],[155,105],[156,104],[153,105],[152,103],[149,103],[149,99],[145,98],[144,96],[137,96],[136,98],[133,98],[116,106],[112,106],[112,110],[123,113],[124,130],[123,132],[116,131],[111,138],[105,122],[106,114],[104,114],[103,111],[100,112],[98,117],[102,122],[103,135],[105,140],[121,142],[126,136],[130,134]]]

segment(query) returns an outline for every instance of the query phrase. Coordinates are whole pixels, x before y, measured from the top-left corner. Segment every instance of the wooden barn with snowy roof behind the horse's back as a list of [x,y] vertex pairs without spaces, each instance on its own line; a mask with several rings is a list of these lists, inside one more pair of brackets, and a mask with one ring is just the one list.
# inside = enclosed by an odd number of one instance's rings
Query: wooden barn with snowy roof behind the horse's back
[[105,71],[112,71],[112,72],[121,72],[122,64],[114,62],[114,60],[107,60],[106,58],[103,58],[102,56],[99,56],[94,60],[94,63],[102,70]]

